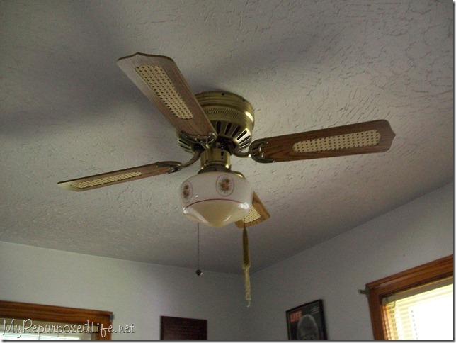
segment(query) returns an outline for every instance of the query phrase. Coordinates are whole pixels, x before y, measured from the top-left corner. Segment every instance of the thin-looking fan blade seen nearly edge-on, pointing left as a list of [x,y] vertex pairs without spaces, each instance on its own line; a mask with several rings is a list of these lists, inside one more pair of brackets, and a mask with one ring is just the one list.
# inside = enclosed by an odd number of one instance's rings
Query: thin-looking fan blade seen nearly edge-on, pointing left
[[144,179],[144,177],[171,173],[180,170],[180,166],[180,162],[156,162],[153,164],[146,164],[145,166],[110,171],[108,173],[81,177],[80,179],[61,181],[58,182],[57,185],[71,191],[89,191],[89,189],[96,189],[112,184],[120,184],[121,182]]

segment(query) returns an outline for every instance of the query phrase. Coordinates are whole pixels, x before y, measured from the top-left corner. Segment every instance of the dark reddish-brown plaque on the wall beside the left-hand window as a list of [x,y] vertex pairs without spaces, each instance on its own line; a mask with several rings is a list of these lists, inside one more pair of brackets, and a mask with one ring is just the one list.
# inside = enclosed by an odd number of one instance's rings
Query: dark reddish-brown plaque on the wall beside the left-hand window
[[164,341],[207,340],[207,320],[162,315],[160,339]]

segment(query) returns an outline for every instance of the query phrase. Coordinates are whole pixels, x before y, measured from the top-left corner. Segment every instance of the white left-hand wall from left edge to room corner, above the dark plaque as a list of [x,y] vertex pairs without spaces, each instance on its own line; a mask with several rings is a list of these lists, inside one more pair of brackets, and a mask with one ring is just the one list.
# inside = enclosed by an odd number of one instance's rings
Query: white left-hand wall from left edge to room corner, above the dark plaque
[[205,319],[210,340],[246,337],[240,275],[198,277],[193,269],[0,242],[0,300],[112,311],[114,327],[135,325],[135,334],[113,339],[159,339],[160,315]]

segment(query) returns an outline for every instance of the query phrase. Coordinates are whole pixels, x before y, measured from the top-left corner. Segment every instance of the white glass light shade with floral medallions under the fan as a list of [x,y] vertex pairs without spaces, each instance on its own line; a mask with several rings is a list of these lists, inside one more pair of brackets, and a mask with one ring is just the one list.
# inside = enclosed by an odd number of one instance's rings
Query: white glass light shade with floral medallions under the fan
[[183,181],[183,213],[212,227],[221,227],[246,217],[252,206],[253,189],[243,177],[208,171]]

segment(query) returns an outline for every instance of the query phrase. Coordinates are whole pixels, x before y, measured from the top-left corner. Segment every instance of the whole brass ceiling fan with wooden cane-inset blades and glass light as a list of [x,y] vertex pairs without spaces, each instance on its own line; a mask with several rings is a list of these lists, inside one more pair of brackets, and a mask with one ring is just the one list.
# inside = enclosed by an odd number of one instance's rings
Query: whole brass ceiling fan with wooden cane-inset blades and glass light
[[181,186],[184,213],[210,226],[235,222],[246,227],[270,215],[244,176],[232,171],[230,156],[271,163],[369,154],[389,150],[394,138],[387,120],[374,120],[252,142],[253,107],[241,96],[226,91],[193,95],[166,56],[137,53],[120,58],[118,66],[174,125],[178,144],[193,157],[188,162],[155,162],[59,182],[64,189],[86,191],[173,173],[200,159],[198,175]]

